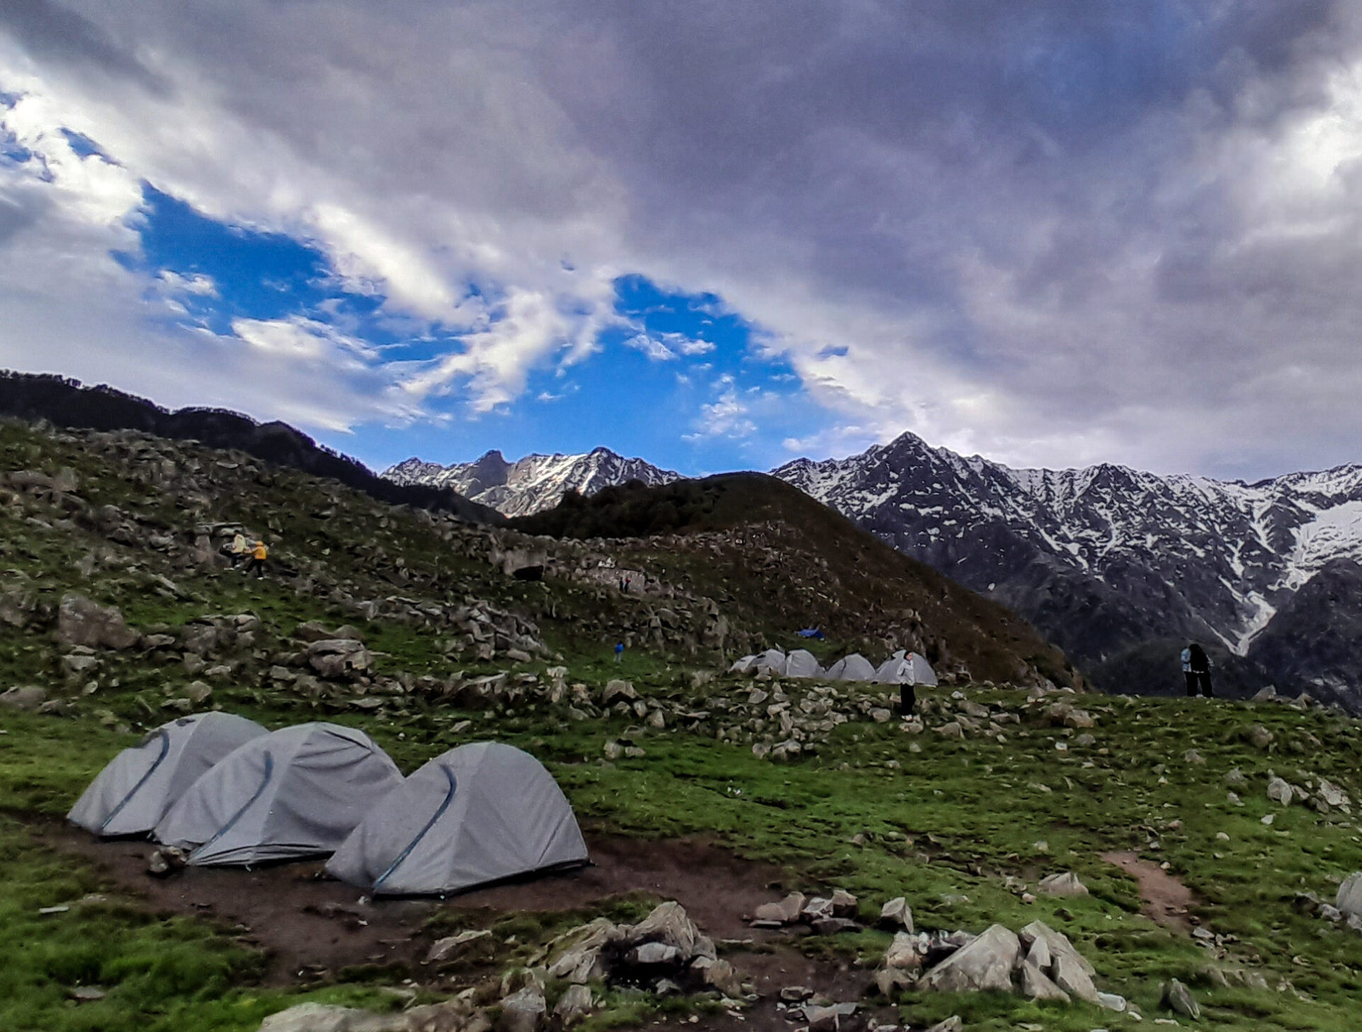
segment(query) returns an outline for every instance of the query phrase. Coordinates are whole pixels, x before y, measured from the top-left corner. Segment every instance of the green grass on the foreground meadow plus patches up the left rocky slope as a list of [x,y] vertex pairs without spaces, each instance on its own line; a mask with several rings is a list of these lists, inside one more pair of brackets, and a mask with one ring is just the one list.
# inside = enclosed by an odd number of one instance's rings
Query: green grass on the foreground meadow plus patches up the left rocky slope
[[[10,468],[42,457],[23,451],[34,444],[22,434],[0,444],[11,449]],[[63,455],[61,460],[80,464],[91,482],[106,481],[109,491],[124,491],[129,500],[139,496],[148,508],[163,505],[168,521],[174,519],[169,500],[118,481],[94,459]],[[402,551],[414,565],[413,555],[426,547],[426,561],[441,564],[440,576],[505,604],[533,599],[528,592],[565,591],[489,577],[484,565],[441,551],[437,541],[407,534],[400,520],[383,527],[376,509],[339,513],[339,520],[366,528],[365,554],[343,524],[336,528],[338,516],[317,521],[309,506],[297,505],[289,482],[278,486],[276,498],[271,490],[242,496],[241,515],[264,526],[274,523],[290,542],[320,542],[331,535],[331,562],[342,573],[350,562],[361,576],[377,549]],[[72,569],[79,550],[63,549],[59,536],[33,532],[8,511],[0,515],[0,565],[29,572],[29,583],[45,592],[79,583]],[[297,558],[305,560],[306,551],[294,547]],[[112,565],[91,594],[117,600],[139,625],[242,609],[279,626],[345,615],[328,599],[298,595],[274,580],[188,576],[180,583],[199,599],[168,599],[157,594],[143,570]],[[515,598],[513,592],[524,595]],[[594,595],[563,598],[597,600]],[[390,652],[385,663],[413,673],[439,674],[447,667],[432,643],[411,628],[372,625],[366,630],[370,644]],[[616,667],[606,662],[603,648],[591,643],[573,648],[568,634],[560,641],[571,649],[572,679],[599,685],[624,673],[643,694],[688,707],[703,707],[716,693],[741,698],[746,692],[745,685],[722,678],[692,689],[686,671],[663,659],[635,654]],[[0,630],[0,686],[50,682],[50,652],[35,636]],[[531,668],[542,670],[542,664]],[[136,741],[136,730],[120,732],[104,726],[101,711],[127,724],[157,723],[165,716],[157,709],[162,685],[187,679],[178,664],[147,666],[124,656],[109,660],[99,690],[79,704],[74,717],[0,711],[0,863],[5,871],[0,926],[7,933],[0,937],[0,1028],[245,1031],[255,1029],[262,1014],[279,1009],[286,998],[301,998],[253,984],[259,957],[234,944],[229,930],[203,920],[146,915],[117,893],[82,904],[89,893],[106,886],[79,862],[33,843],[27,822],[34,816],[63,814],[99,767]],[[933,701],[944,694],[933,693]],[[688,731],[646,732],[640,739],[646,757],[602,764],[605,742],[624,735],[627,722],[612,716],[573,723],[564,719],[561,708],[542,703],[513,712],[464,712],[413,696],[383,715],[336,715],[286,693],[230,682],[217,686],[215,701],[270,726],[319,717],[354,723],[373,734],[406,771],[462,741],[503,738],[543,757],[579,816],[601,831],[708,835],[752,858],[786,865],[790,888],[844,885],[861,894],[866,909],[906,894],[923,929],[978,931],[993,920],[1019,927],[1043,918],[1094,960],[1103,988],[1130,997],[1147,1020],[1158,1013],[1159,982],[1178,976],[1197,991],[1209,1027],[1355,1027],[1362,935],[1298,915],[1291,904],[1298,889],[1332,896],[1339,877],[1362,867],[1358,824],[1337,813],[1321,816],[1299,806],[1282,810],[1264,794],[1272,768],[1293,781],[1329,777],[1362,799],[1355,773],[1362,734],[1355,722],[1276,705],[1094,697],[1088,705],[1098,716],[1096,742],[1080,747],[1073,741],[1077,732],[1045,727],[1034,707],[1023,707],[1019,693],[970,689],[968,694],[1024,712],[1026,723],[1020,730],[1007,726],[1007,741],[998,742],[986,737],[952,741],[930,731],[910,737],[892,722],[854,722],[839,727],[817,756],[787,765],[759,761],[745,747]],[[452,732],[466,717],[474,727]],[[930,722],[944,719],[934,715]],[[1275,732],[1271,752],[1245,743],[1254,723]],[[913,743],[921,752],[911,752]],[[1057,743],[1068,749],[1058,750]],[[1193,747],[1205,758],[1204,765],[1184,761],[1184,753]],[[1162,772],[1159,764],[1166,765]],[[1242,791],[1244,807],[1226,801],[1223,779],[1235,765],[1250,783]],[[1269,811],[1276,818],[1265,826],[1258,818]],[[1229,835],[1229,841],[1218,840],[1218,832]],[[854,836],[864,836],[864,844],[854,844]],[[1041,840],[1049,844],[1047,852],[1036,851]],[[1215,988],[1204,973],[1214,961],[1203,948],[1139,915],[1133,882],[1098,856],[1109,848],[1166,859],[1203,901],[1203,923],[1237,937],[1222,965],[1252,967],[1265,975],[1269,988]],[[1034,886],[1038,875],[1069,867],[1090,885],[1091,897],[1026,904],[1005,881],[1012,875]],[[37,912],[52,904],[71,904],[72,909]],[[528,918],[523,926],[527,931],[537,927]],[[866,931],[810,938],[805,948],[873,963],[887,941],[881,933]],[[1284,987],[1287,980],[1290,988]],[[69,987],[91,983],[106,987],[109,995],[79,1006],[67,999]],[[357,983],[306,995],[377,1003],[381,984],[377,975],[361,975]],[[917,1025],[960,1013],[970,1028],[1013,1028],[1016,1021],[1035,1021],[1046,1029],[1136,1027],[1091,1007],[1038,1007],[1012,998],[908,994],[903,1012]],[[598,1022],[637,1013],[636,1002],[621,1005]]]

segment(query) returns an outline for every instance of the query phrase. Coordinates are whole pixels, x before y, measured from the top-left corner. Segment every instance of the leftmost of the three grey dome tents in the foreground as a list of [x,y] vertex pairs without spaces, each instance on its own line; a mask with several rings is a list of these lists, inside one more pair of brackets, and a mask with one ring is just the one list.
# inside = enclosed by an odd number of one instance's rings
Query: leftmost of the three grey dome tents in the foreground
[[95,835],[146,835],[200,775],[264,734],[234,713],[193,713],[162,724],[113,757],[67,820]]

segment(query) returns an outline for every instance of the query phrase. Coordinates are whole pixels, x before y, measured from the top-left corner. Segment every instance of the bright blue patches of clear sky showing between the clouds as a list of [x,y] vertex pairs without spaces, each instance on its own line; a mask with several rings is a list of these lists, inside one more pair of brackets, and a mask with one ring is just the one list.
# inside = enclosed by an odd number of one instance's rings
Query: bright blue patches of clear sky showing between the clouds
[[[98,148],[86,143],[84,152]],[[151,280],[151,293],[166,280],[187,285],[162,315],[168,324],[230,336],[237,320],[302,319],[372,347],[379,368],[421,368],[463,347],[458,332],[392,319],[381,293],[346,289],[306,240],[207,218],[150,185],[144,192],[138,246],[116,257]],[[415,419],[306,429],[379,468],[410,455],[448,464],[493,448],[515,459],[603,445],[706,474],[770,468],[789,457],[785,441],[832,423],[789,361],[722,298],[636,274],[613,287],[616,319],[586,357],[550,355],[519,396],[488,411],[473,410],[455,383],[426,396]]]

